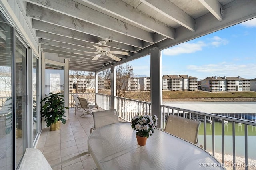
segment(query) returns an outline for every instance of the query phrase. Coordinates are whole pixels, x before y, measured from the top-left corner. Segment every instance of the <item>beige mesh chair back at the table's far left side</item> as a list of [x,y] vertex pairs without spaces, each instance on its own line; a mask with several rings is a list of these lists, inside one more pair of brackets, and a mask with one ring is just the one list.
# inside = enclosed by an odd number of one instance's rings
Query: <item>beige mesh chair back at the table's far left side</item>
[[119,122],[116,109],[93,112],[92,115],[93,115],[94,127],[91,128],[90,133],[92,133],[92,130],[95,130],[97,128],[103,127],[105,125],[109,125],[111,123]]

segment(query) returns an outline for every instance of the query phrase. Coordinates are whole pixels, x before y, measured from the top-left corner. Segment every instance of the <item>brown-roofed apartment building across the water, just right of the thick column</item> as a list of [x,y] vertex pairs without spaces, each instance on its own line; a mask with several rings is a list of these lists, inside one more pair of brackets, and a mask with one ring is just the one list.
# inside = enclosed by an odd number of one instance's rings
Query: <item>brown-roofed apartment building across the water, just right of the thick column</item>
[[189,75],[163,75],[162,88],[172,91],[196,91],[197,78]]

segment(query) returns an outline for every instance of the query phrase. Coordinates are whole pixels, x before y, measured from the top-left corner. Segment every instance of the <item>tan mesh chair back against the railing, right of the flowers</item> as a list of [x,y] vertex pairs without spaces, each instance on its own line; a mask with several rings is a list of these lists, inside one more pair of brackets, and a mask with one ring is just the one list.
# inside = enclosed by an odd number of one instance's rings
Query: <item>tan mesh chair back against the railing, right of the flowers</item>
[[200,121],[169,115],[164,131],[203,148],[202,144],[197,143],[200,124]]

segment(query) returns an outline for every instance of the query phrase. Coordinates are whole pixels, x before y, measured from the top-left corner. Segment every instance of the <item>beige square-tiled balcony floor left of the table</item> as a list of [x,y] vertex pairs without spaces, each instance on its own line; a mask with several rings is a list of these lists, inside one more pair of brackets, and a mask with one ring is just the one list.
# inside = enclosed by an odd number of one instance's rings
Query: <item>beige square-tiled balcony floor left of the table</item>
[[[99,108],[100,111],[103,110]],[[37,149],[41,150],[45,158],[52,166],[68,158],[88,151],[87,139],[90,135],[90,128],[94,126],[93,117],[86,115],[80,117],[82,110],[69,109],[69,120],[60,126],[60,130],[49,131],[44,128],[39,138]],[[96,165],[92,156],[84,155],[66,164],[55,167],[54,170],[92,170]]]

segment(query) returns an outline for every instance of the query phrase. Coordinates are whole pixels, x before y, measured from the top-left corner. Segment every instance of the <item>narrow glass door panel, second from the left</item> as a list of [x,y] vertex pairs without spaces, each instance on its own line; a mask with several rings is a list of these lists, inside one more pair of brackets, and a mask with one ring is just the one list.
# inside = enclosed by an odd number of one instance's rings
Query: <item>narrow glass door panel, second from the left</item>
[[16,115],[16,165],[20,162],[26,140],[26,113],[27,113],[27,92],[26,92],[26,56],[27,48],[18,38],[15,41],[15,115]]

